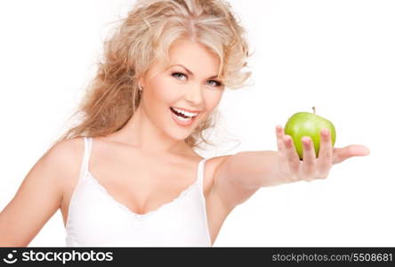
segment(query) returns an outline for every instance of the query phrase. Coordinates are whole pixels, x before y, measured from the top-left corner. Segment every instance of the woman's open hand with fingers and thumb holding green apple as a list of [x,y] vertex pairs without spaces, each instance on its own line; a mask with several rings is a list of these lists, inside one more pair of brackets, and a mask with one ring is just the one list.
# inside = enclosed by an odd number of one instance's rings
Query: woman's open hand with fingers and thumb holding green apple
[[300,160],[291,136],[284,134],[284,128],[281,125],[276,126],[278,167],[281,175],[289,177],[291,182],[325,179],[333,165],[347,158],[367,156],[370,153],[369,149],[362,145],[333,148],[330,132],[322,129],[320,134],[318,158],[316,158],[311,138],[303,136],[303,160]]

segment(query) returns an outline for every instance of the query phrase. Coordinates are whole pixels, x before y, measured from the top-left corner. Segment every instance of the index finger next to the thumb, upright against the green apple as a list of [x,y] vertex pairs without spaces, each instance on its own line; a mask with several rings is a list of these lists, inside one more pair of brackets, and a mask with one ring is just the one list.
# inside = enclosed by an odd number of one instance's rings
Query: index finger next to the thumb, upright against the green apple
[[322,129],[320,133],[317,170],[323,176],[326,176],[332,166],[333,150],[330,131],[326,128]]

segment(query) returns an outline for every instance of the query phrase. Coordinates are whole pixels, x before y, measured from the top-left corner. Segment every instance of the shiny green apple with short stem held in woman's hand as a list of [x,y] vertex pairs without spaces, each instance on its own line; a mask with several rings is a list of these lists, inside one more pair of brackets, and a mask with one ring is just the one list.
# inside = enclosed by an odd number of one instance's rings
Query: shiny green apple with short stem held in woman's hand
[[288,118],[286,126],[284,127],[284,133],[292,137],[294,141],[294,147],[299,155],[299,158],[303,159],[303,144],[302,137],[310,136],[314,150],[316,152],[316,158],[318,158],[319,142],[321,139],[321,129],[329,129],[332,137],[332,146],[335,145],[336,131],[335,125],[333,125],[325,117],[316,115],[315,108],[312,108],[314,113],[310,112],[297,112],[293,116]]

